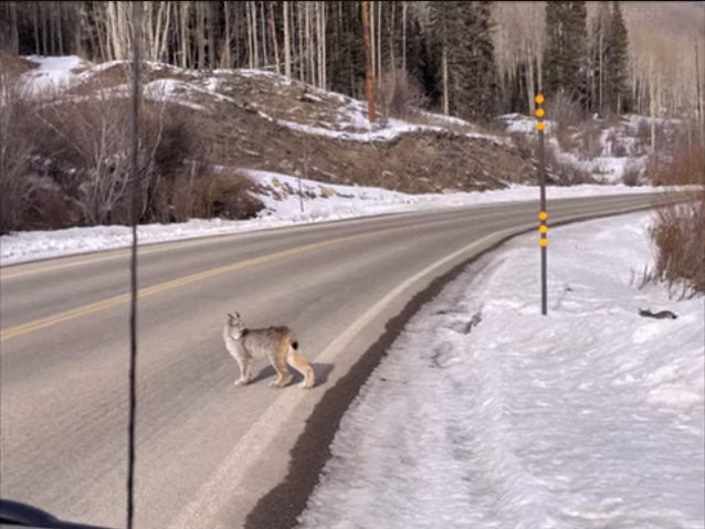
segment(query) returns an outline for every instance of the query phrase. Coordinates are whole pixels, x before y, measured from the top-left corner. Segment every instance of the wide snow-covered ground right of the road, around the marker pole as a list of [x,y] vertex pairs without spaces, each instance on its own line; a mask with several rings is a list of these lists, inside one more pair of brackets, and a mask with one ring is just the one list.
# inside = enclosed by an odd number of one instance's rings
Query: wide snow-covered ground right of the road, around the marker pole
[[705,304],[632,285],[648,222],[551,231],[547,317],[535,235],[448,285],[347,412],[299,527],[702,529]]

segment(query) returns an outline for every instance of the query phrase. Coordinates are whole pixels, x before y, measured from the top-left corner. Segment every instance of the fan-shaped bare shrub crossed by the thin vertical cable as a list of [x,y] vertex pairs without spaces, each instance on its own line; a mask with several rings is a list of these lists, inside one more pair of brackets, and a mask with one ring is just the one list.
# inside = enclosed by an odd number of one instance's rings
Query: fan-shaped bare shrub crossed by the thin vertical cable
[[[61,170],[52,177],[82,209],[82,223],[129,223],[131,133],[129,100],[90,97],[44,105],[36,114],[44,131],[40,152]],[[175,107],[144,102],[138,154],[139,221],[170,214],[166,183],[189,157],[198,157],[194,124]],[[166,186],[168,188],[168,186]]]

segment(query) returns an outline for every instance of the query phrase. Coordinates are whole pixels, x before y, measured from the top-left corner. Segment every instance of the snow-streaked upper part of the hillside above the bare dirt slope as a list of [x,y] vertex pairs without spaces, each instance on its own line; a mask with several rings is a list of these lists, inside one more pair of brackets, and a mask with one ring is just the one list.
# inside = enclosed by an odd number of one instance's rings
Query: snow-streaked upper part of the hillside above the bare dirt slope
[[[101,74],[111,70],[124,70],[129,65],[128,61],[109,61],[102,64],[90,64],[77,56],[66,57],[39,57],[29,56],[28,60],[39,64],[39,67],[24,74],[24,80],[34,93],[43,88],[54,86],[66,89],[71,86],[85,85],[95,82]],[[287,92],[298,94],[304,91],[304,85],[296,83],[284,75],[259,70],[214,70],[210,73],[186,70],[164,63],[146,61],[146,71],[156,73],[160,77],[156,81],[147,82],[144,86],[145,96],[156,100],[170,100],[179,105],[188,106],[196,110],[207,110],[210,103],[238,104],[236,93],[241,88],[242,81],[250,80],[259,82],[256,88],[269,98],[286,96]],[[172,78],[164,78],[171,76]],[[301,91],[299,91],[301,88]],[[129,94],[129,86],[126,83],[102,89],[102,93],[115,97],[125,97]],[[414,131],[441,131],[448,127],[432,124],[410,124],[401,119],[390,118],[382,126],[369,124],[367,119],[367,104],[341,94],[322,91],[313,86],[305,86],[304,97],[307,105],[313,105],[313,113],[306,112],[304,115],[287,115],[293,108],[288,108],[284,115],[272,115],[267,105],[255,105],[256,112],[264,119],[276,121],[277,125],[288,127],[306,134],[325,136],[328,138],[348,141],[389,141],[402,134]],[[74,96],[75,97],[75,96]],[[75,98],[82,98],[80,96]],[[213,100],[214,99],[214,100]],[[291,107],[291,105],[288,105]],[[313,114],[313,115],[312,115]],[[457,133],[469,138],[483,138],[495,142],[505,142],[504,138],[493,135],[472,131],[470,123],[462,119],[450,118],[440,119],[431,113],[423,113],[429,120],[440,124],[452,123],[455,126],[463,126],[465,130]],[[302,119],[302,117],[304,119]]]

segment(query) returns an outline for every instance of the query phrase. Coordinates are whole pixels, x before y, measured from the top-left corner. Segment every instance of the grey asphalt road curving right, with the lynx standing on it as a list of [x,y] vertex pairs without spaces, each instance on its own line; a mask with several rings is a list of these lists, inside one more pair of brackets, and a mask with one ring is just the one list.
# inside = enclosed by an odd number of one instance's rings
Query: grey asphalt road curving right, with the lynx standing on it
[[[549,225],[652,200],[549,201]],[[141,248],[136,527],[291,526],[380,336],[432,279],[537,222],[536,203],[514,203]],[[0,271],[0,497],[125,527],[128,264],[115,251]],[[290,325],[317,387],[270,389],[266,366],[233,385],[221,338],[233,309],[252,327]]]

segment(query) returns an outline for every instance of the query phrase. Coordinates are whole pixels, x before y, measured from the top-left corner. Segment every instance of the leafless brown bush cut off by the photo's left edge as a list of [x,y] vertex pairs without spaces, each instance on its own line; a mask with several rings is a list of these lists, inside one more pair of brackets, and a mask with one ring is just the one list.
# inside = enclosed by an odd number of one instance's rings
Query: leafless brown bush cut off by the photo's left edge
[[17,81],[0,76],[0,234],[23,228],[31,210],[29,167],[34,130],[32,103]]

